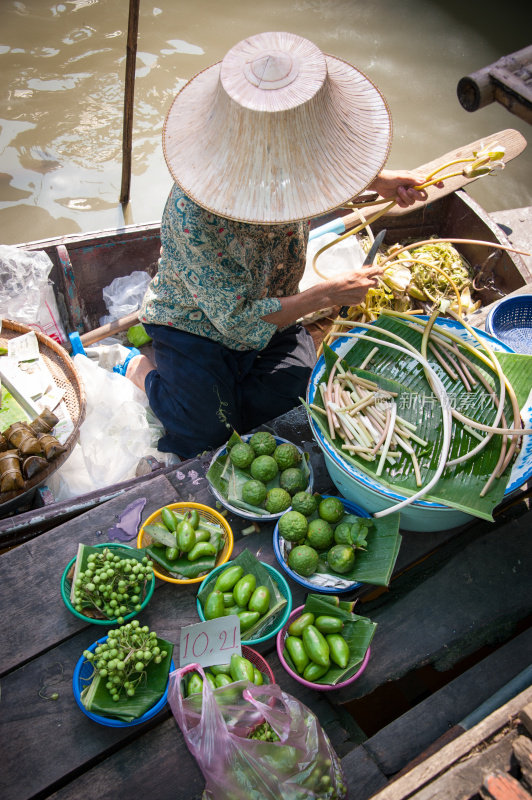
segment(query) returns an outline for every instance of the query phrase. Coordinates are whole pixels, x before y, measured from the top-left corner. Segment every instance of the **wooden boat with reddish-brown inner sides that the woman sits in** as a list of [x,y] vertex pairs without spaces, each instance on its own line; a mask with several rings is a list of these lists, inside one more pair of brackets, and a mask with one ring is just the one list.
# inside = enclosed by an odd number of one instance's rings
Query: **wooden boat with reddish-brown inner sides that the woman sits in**
[[[314,224],[319,226],[327,221],[328,218],[324,217]],[[382,217],[372,225],[374,232],[383,227],[387,230],[385,241],[388,243],[419,241],[437,235],[510,246],[505,234],[487,212],[464,191],[453,191],[410,213],[399,212]],[[152,276],[156,273],[160,225],[128,225],[80,236],[31,241],[20,247],[44,250],[48,254],[53,264],[50,280],[64,328],[68,333],[78,331],[83,338],[98,328],[100,317],[107,312],[102,295],[105,286],[133,270],[144,270]],[[478,294],[484,306],[532,280],[524,261],[516,253],[474,244],[459,245],[458,249],[480,276]],[[22,543],[64,519],[116,496],[135,481],[148,480],[153,475],[150,474],[151,467],[163,471],[172,469],[161,468],[157,462],[144,466],[145,475],[125,484],[57,503],[46,487],[36,487],[29,494],[24,493],[14,512],[10,508],[9,517],[2,514],[0,504],[0,517],[5,517],[0,518],[0,549]]]

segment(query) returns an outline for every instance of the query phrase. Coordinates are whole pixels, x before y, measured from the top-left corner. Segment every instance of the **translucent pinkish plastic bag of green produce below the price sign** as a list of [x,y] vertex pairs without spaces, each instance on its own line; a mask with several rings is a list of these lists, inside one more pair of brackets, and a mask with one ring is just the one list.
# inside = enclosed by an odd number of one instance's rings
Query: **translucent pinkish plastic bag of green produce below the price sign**
[[[205,777],[204,800],[342,800],[340,761],[315,715],[277,684],[238,681],[183,698],[189,664],[170,674],[168,702]],[[248,739],[264,721],[280,741]]]

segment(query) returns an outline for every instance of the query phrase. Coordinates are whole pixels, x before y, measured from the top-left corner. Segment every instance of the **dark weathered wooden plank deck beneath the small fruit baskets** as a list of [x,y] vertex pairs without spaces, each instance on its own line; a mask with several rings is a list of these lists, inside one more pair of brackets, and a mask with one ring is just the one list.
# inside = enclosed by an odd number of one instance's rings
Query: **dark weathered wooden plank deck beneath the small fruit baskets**
[[[271,429],[309,452],[316,489],[330,491],[301,409],[274,420]],[[201,797],[203,777],[168,708],[143,726],[112,729],[76,706],[73,670],[101,628],[67,611],[59,581],[78,542],[105,541],[133,500],[146,499],[143,519],[170,501],[213,504],[204,478],[208,460],[155,475],[0,556],[3,800]],[[304,689],[282,669],[274,642],[257,646],[281,687],[317,714],[342,758],[350,800],[393,786],[391,779],[449,729],[459,730],[467,714],[530,662],[530,513],[523,502],[503,509],[495,523],[404,532],[389,589],[361,587],[350,595],[379,627],[368,668],[349,691]],[[235,555],[247,548],[276,563],[271,523],[244,536],[247,521],[229,521]],[[303,588],[289,584],[294,605],[301,604]],[[181,626],[198,621],[195,594],[158,582],[142,621],[178,642]],[[427,670],[432,681],[439,676],[437,686],[424,686]],[[57,701],[43,699],[51,691]],[[397,700],[401,692],[408,693],[406,709]]]

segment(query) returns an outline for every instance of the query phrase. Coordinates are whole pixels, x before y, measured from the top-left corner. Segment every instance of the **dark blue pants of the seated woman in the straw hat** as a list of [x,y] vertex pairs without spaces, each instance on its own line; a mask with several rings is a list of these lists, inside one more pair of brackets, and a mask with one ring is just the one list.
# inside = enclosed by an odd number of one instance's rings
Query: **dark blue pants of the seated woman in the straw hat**
[[166,431],[159,450],[185,459],[299,405],[316,362],[301,325],[277,331],[263,350],[245,351],[167,325],[144,327],[157,367],[146,393]]

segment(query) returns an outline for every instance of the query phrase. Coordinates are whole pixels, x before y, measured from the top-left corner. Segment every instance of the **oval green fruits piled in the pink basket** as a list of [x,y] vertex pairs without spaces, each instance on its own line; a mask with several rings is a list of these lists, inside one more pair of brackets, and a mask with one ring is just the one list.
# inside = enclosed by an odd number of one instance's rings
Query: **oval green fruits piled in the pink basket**
[[332,664],[345,669],[349,663],[349,645],[341,634],[339,617],[305,612],[288,628],[284,655],[288,654],[297,673],[313,683],[327,675]]

